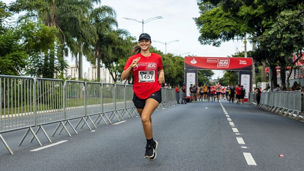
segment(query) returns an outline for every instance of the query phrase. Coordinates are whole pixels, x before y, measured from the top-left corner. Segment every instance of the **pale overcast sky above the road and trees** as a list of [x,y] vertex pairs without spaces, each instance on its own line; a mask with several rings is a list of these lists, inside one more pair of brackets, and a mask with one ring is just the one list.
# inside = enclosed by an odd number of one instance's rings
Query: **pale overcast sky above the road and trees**
[[[13,1],[2,0],[5,3]],[[102,0],[101,5],[111,6],[116,10],[118,27],[126,29],[131,36],[138,38],[142,33],[142,23],[126,20],[126,18],[138,21],[147,20],[152,17],[162,16],[162,19],[152,20],[143,25],[143,32],[151,36],[152,45],[165,53],[165,45],[153,42],[172,42],[167,44],[167,53],[196,55],[199,57],[227,57],[234,54],[237,50],[244,51],[243,41],[230,41],[222,43],[220,47],[201,45],[198,42],[199,30],[193,20],[199,17],[199,9],[195,0]],[[131,48],[131,47],[130,47]],[[251,50],[252,45],[247,44],[247,50]],[[183,55],[183,56],[185,56]],[[85,59],[83,60],[85,61]],[[68,58],[70,64],[75,61]],[[83,72],[88,72],[90,64],[84,62]],[[212,79],[223,76],[223,71],[216,71]]]

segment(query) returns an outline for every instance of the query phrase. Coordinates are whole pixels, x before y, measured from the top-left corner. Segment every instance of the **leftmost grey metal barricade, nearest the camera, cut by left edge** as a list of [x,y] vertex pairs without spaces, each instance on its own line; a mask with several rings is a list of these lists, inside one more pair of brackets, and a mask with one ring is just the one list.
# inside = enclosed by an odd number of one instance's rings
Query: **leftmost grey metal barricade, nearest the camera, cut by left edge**
[[[13,154],[1,133],[27,129],[36,137],[35,83],[33,78],[0,75],[0,139]],[[27,134],[26,133],[26,134]],[[42,145],[36,137],[39,145]]]

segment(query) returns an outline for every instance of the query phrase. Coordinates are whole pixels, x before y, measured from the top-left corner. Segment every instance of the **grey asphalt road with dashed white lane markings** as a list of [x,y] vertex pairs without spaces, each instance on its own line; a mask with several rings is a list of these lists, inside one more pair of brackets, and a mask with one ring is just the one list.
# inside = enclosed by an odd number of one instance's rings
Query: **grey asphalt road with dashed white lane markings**
[[[0,170],[304,170],[304,123],[254,106],[224,100],[176,105],[155,111],[152,125],[159,143],[154,161],[144,158],[140,118],[125,115],[123,123],[101,121],[93,131],[78,128],[78,135],[67,126],[72,136],[63,131],[52,143],[40,131],[43,147],[61,143],[38,151],[31,151],[40,148],[28,143],[31,135],[17,146],[26,130],[3,133],[14,155],[0,142]],[[44,129],[50,136],[56,126]]]

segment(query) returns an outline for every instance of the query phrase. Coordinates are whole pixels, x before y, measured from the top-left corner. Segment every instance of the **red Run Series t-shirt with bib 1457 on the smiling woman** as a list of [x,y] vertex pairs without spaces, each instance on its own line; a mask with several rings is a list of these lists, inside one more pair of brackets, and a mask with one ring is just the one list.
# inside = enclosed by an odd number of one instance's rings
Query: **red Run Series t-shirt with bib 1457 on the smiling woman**
[[132,61],[139,58],[137,65],[132,68],[134,85],[133,91],[140,99],[147,99],[151,94],[161,89],[158,82],[157,71],[163,69],[161,55],[151,52],[151,56],[145,57],[141,53],[131,56],[126,62],[126,70],[132,64]]

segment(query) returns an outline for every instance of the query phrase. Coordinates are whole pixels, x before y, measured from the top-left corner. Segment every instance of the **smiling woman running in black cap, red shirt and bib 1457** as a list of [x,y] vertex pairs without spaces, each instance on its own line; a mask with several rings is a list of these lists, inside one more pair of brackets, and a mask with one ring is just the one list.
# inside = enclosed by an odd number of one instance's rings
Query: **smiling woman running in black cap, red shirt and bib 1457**
[[161,84],[164,83],[164,70],[161,56],[149,51],[150,35],[142,33],[139,36],[138,44],[139,46],[133,47],[133,56],[126,62],[121,79],[128,78],[132,71],[134,77],[133,103],[141,117],[147,140],[145,158],[154,160],[158,143],[153,140],[151,115],[161,103]]

